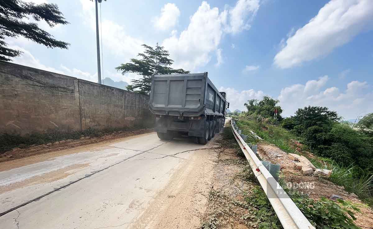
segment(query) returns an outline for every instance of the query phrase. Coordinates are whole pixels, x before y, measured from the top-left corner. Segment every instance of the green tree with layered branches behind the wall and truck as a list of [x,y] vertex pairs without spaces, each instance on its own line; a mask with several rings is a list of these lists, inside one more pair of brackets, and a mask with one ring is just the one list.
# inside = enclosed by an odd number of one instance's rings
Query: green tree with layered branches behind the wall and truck
[[132,58],[131,63],[120,64],[116,67],[117,71],[121,71],[122,74],[136,73],[142,76],[142,79],[132,80],[132,85],[127,86],[127,90],[136,92],[142,92],[149,94],[151,87],[151,76],[153,74],[176,74],[176,73],[189,73],[184,69],[173,69],[170,66],[173,60],[169,59],[169,52],[164,50],[164,47],[159,46],[158,43],[156,48],[151,46],[142,45],[145,48],[144,53],[139,53],[138,56],[141,60]]

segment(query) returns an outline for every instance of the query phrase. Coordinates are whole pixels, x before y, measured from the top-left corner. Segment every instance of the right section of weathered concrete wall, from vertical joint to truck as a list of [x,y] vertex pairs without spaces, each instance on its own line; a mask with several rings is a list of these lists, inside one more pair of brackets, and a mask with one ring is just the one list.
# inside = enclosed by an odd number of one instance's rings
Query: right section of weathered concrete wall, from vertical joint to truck
[[79,80],[79,92],[83,129],[127,127],[153,119],[148,96],[85,80]]

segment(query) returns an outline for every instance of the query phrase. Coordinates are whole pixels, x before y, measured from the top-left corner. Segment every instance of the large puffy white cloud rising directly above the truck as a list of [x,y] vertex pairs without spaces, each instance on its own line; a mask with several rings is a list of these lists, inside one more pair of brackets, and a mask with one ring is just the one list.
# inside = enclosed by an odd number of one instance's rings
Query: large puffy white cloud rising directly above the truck
[[162,46],[175,60],[175,67],[194,70],[211,60],[211,52],[216,51],[224,33],[236,34],[249,29],[259,3],[257,0],[238,0],[236,6],[219,13],[203,1],[197,12],[190,18],[188,28],[177,36],[176,33],[164,39]]

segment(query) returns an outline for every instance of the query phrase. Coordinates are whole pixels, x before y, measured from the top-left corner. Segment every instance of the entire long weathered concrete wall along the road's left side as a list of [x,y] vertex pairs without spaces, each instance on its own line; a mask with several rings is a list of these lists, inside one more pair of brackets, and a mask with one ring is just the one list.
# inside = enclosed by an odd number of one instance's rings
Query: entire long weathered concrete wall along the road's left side
[[0,134],[150,125],[147,101],[145,95],[0,62]]

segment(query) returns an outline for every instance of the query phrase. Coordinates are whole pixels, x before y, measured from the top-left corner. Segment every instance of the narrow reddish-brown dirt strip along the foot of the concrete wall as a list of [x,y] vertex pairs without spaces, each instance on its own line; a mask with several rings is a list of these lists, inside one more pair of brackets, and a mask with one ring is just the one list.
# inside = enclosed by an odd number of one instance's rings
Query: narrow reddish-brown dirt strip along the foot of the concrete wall
[[14,148],[8,152],[0,154],[0,162],[5,162],[9,160],[15,160],[20,158],[26,158],[33,155],[40,155],[44,153],[53,152],[56,150],[70,149],[77,146],[84,146],[93,143],[100,143],[104,141],[110,141],[115,139],[120,139],[123,137],[134,136],[138,134],[145,134],[153,132],[154,129],[141,129],[134,131],[117,131],[110,134],[105,134],[102,137],[88,137],[82,136],[80,139],[73,140],[67,139],[62,141],[56,141],[54,143],[42,144],[38,146],[31,146],[24,149]]

